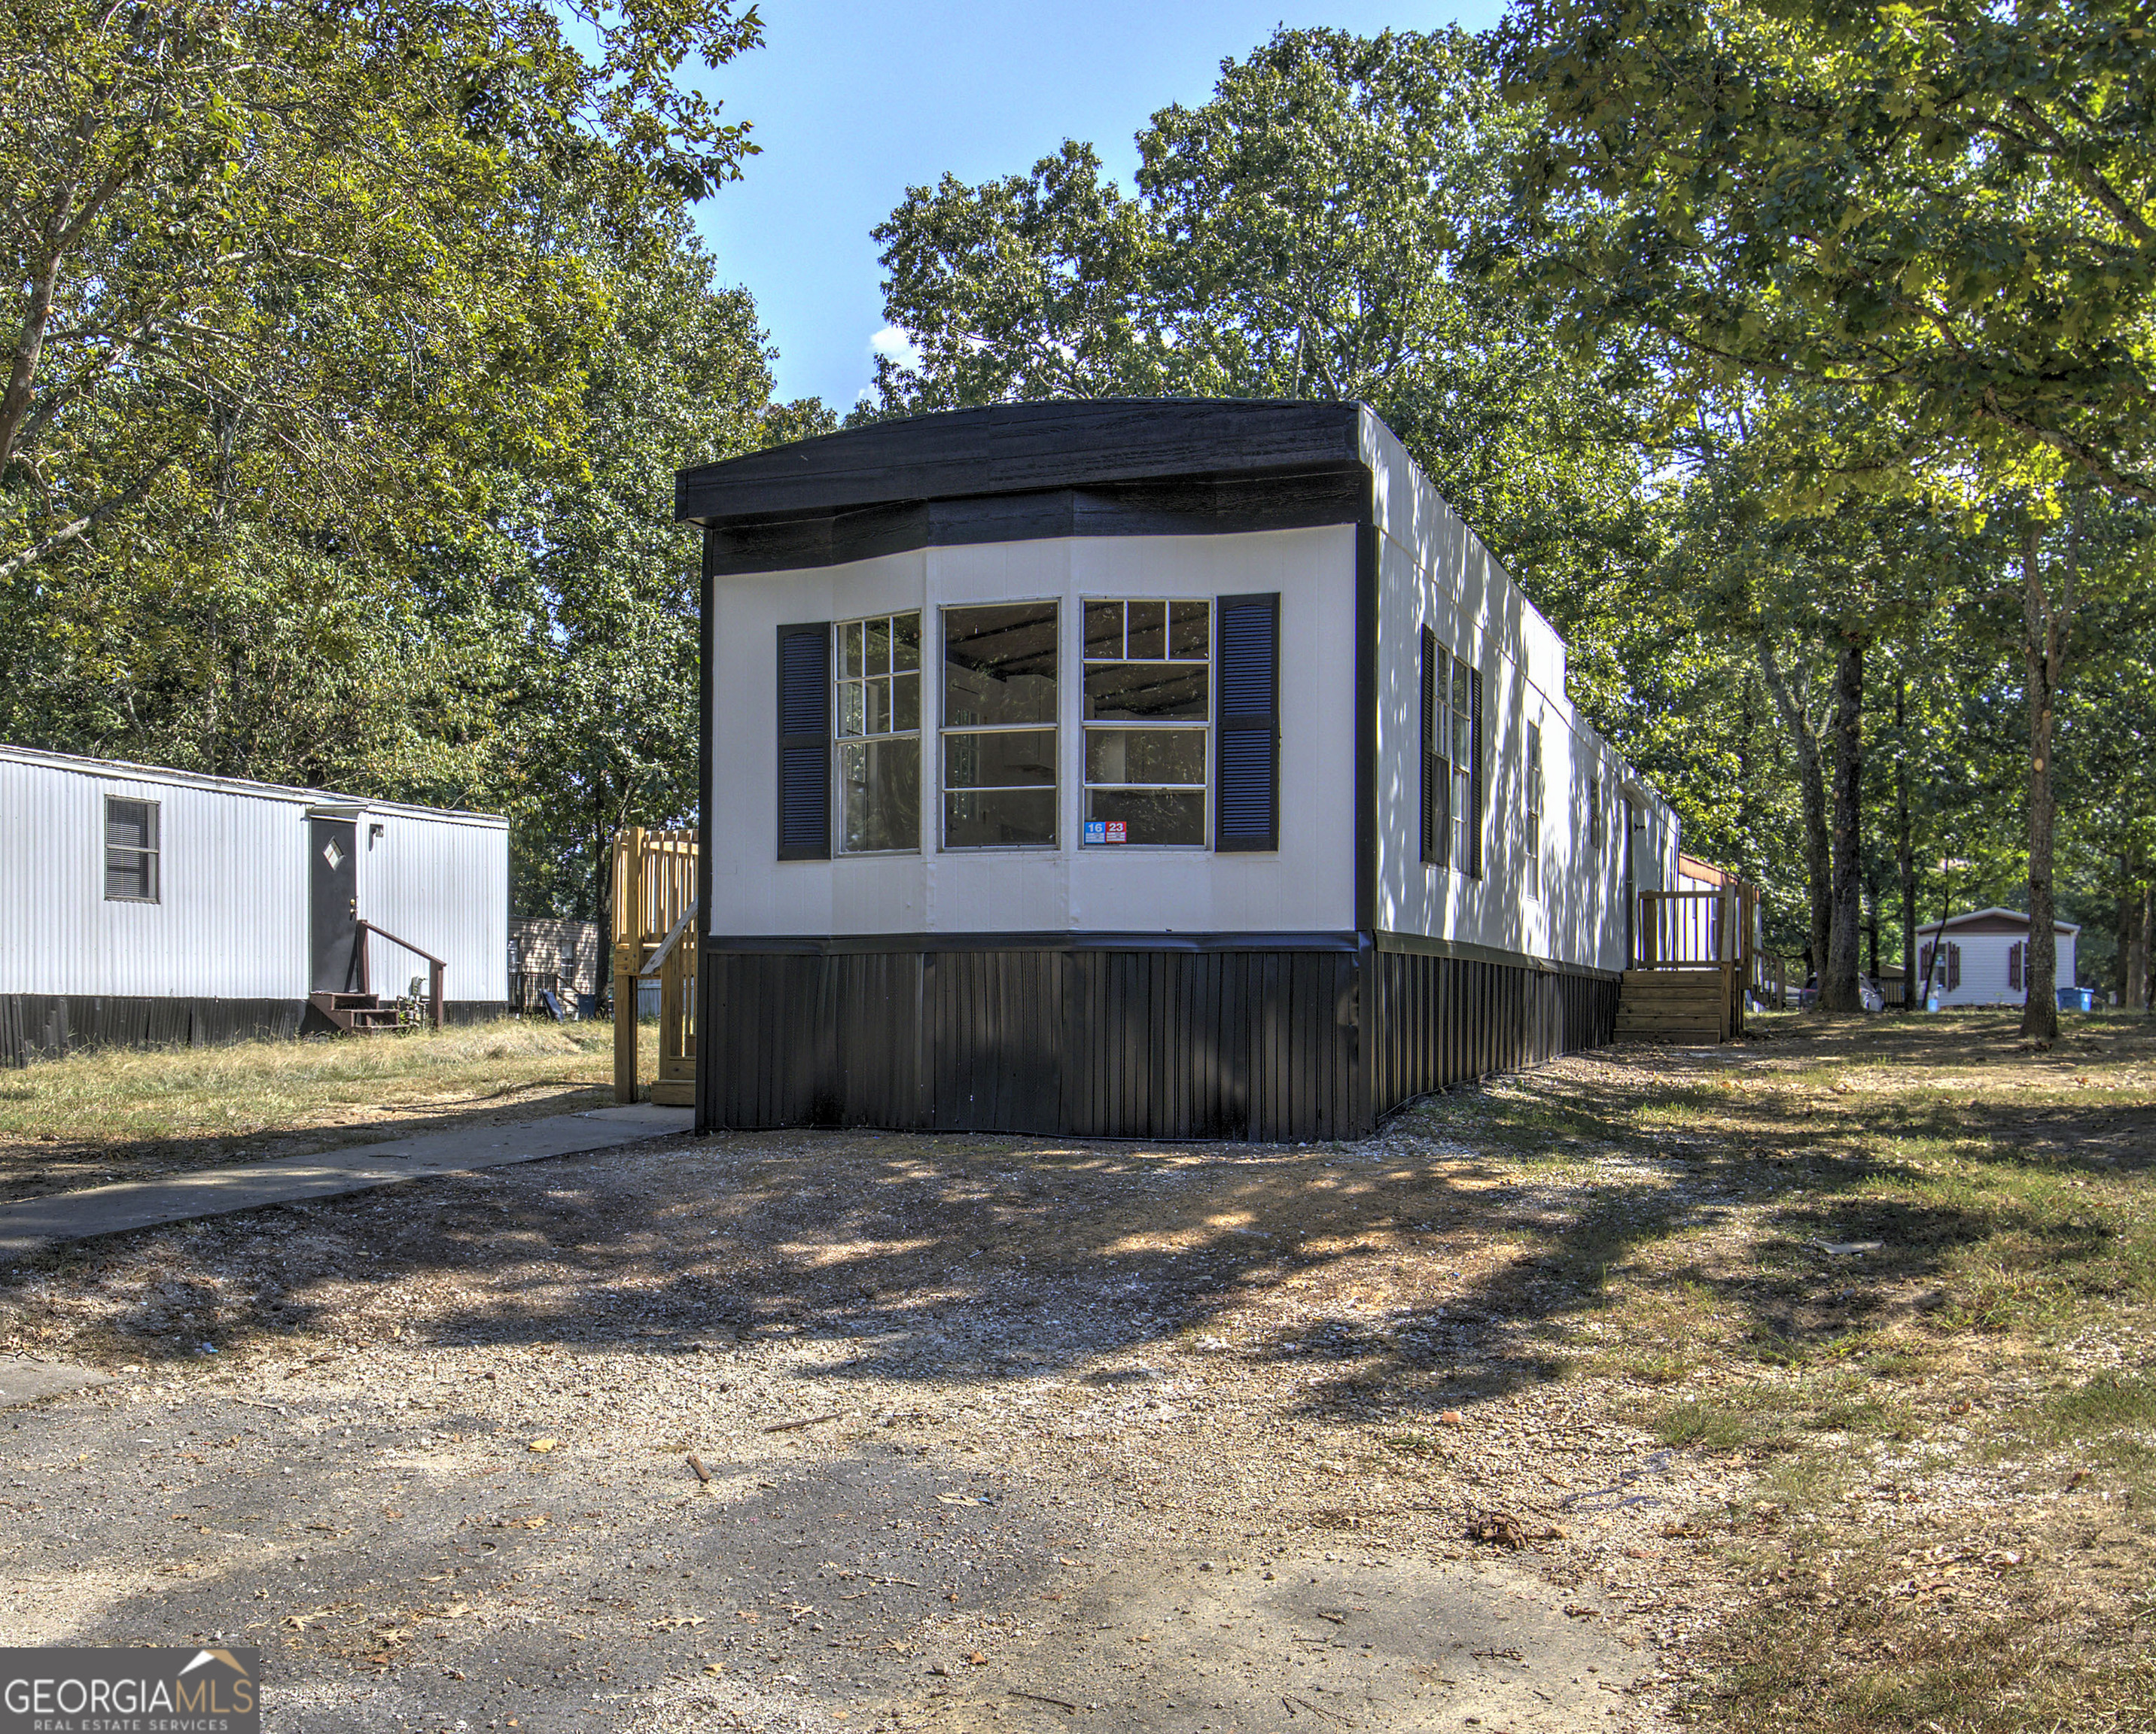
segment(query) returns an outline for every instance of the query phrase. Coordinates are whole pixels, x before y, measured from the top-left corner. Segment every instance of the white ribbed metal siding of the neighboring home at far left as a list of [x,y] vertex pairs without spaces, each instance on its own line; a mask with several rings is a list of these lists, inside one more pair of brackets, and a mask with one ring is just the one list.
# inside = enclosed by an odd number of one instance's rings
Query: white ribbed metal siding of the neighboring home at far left
[[[153,904],[106,897],[108,796],[157,802]],[[358,822],[360,914],[442,955],[448,999],[507,999],[505,820],[28,748],[0,748],[0,994],[304,1001],[321,809]],[[377,990],[403,962],[377,949]]]

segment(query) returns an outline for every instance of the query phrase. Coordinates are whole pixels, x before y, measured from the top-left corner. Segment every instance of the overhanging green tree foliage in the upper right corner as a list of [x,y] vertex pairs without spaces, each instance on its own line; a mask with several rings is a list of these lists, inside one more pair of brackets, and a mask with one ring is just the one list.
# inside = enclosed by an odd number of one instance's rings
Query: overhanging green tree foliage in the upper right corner
[[1526,278],[1895,418],[1794,492],[1975,462],[2156,500],[2156,93],[2128,0],[1539,0],[1505,32]]

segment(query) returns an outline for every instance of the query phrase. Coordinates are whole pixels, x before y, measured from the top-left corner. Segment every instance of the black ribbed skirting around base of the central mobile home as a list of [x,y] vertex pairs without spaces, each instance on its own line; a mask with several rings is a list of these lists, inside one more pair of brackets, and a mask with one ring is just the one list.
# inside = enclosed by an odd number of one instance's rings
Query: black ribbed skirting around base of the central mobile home
[[705,949],[699,1121],[1354,1139],[1611,1040],[1615,979],[1363,945]]

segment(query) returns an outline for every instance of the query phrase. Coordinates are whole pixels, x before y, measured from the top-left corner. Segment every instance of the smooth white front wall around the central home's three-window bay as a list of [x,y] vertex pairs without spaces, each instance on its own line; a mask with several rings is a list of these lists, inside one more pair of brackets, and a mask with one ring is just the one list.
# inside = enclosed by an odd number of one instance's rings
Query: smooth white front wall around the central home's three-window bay
[[[1080,837],[1084,597],[1281,593],[1281,850],[1087,850]],[[776,630],[921,608],[1059,600],[1054,850],[940,852],[940,714],[923,656],[923,850],[776,858]],[[714,934],[1345,932],[1354,927],[1354,531],[1061,537],[925,548],[718,582],[711,669]]]

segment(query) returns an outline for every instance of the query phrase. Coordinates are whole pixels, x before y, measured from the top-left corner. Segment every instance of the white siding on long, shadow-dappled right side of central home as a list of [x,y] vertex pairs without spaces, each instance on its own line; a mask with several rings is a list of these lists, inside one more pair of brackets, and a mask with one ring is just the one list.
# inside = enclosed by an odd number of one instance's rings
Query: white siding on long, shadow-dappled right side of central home
[[[1632,884],[1675,884],[1677,822],[1565,697],[1565,645],[1376,416],[1378,477],[1378,927],[1557,962],[1626,964]],[[1483,876],[1421,858],[1421,630],[1483,677]],[[1526,876],[1526,725],[1542,727],[1542,863]],[[1602,845],[1591,845],[1591,792]]]

